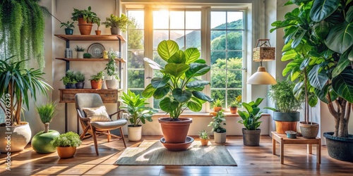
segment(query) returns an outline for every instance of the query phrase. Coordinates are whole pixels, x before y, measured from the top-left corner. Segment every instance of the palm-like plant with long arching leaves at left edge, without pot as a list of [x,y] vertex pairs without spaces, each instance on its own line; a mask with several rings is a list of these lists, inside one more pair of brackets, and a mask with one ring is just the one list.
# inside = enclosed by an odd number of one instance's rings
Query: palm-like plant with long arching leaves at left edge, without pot
[[30,97],[36,101],[37,93],[47,96],[47,90],[52,87],[43,81],[45,73],[40,69],[20,67],[27,60],[10,63],[11,60],[12,57],[0,59],[0,107],[11,117],[6,118],[5,125],[21,125],[22,106],[30,108]]

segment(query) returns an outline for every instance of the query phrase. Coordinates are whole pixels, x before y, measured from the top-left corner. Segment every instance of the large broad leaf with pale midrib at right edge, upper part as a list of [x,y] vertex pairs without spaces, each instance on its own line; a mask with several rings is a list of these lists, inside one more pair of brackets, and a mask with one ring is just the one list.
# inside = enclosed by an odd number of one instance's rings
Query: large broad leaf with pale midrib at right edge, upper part
[[353,23],[335,25],[328,33],[325,44],[329,49],[343,54],[353,45]]

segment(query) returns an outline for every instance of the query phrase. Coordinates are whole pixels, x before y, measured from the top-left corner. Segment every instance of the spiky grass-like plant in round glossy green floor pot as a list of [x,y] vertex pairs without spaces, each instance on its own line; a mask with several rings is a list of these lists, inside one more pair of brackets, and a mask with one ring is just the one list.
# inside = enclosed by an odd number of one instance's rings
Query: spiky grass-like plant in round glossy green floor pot
[[51,143],[55,137],[59,137],[59,132],[56,130],[49,130],[49,123],[55,115],[56,103],[50,102],[37,106],[37,113],[40,115],[40,120],[44,124],[44,131],[38,132],[32,137],[32,148],[37,153],[53,153],[56,151],[56,146]]

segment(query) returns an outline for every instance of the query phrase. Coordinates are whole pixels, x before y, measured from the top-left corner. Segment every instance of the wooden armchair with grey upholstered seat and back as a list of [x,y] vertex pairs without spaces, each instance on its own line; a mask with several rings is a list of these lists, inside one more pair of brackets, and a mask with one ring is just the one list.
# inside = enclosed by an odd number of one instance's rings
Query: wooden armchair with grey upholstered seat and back
[[[80,135],[80,139],[83,140],[86,133],[89,133],[93,137],[93,141],[95,142],[95,152],[98,153],[98,144],[97,144],[97,133],[99,134],[107,134],[108,142],[110,142],[110,137],[117,137],[124,142],[124,146],[126,148],[124,133],[121,130],[121,127],[126,125],[127,120],[120,118],[121,111],[117,111],[116,113],[112,113],[109,115],[109,118],[103,121],[92,121],[92,118],[88,118],[86,113],[83,111],[83,108],[96,108],[100,106],[104,106],[102,98],[99,94],[90,94],[90,93],[79,93],[75,95],[75,104],[77,111],[77,118],[80,119],[80,124],[83,129],[83,133]],[[113,115],[117,115],[117,120],[112,120]],[[110,133],[110,130],[119,129],[121,137],[118,137],[114,134]]]

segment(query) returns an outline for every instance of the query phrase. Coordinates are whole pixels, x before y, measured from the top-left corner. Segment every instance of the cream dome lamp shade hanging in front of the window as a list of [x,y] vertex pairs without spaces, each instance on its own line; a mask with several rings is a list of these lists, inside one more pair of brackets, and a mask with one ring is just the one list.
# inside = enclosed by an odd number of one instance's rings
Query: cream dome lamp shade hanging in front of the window
[[263,66],[258,67],[258,71],[249,77],[246,84],[277,84],[275,78],[266,72]]

